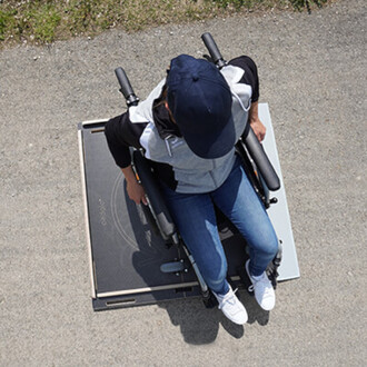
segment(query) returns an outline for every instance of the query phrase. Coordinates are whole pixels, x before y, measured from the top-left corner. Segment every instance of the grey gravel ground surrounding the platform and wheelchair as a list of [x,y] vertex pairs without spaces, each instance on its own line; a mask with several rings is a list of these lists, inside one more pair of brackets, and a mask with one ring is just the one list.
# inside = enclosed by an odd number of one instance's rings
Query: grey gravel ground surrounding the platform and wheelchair
[[[366,2],[234,17],[0,53],[0,365],[363,366],[366,336]],[[125,108],[210,31],[259,66],[301,278],[237,327],[200,300],[93,313],[77,123]],[[364,122],[365,121],[365,122]]]

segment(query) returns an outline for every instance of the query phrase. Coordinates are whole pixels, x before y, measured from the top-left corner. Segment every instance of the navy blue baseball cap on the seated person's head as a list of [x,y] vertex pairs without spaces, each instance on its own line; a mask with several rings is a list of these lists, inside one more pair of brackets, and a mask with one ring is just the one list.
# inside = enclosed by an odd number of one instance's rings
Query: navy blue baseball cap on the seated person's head
[[199,157],[227,155],[235,146],[230,88],[209,61],[180,54],[167,76],[167,101],[187,145]]

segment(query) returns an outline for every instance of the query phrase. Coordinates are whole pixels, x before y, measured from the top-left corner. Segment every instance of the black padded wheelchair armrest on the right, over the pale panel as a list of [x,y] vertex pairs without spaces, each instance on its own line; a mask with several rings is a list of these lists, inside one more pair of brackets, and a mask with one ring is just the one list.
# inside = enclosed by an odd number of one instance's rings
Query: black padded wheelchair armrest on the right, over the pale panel
[[278,190],[280,188],[279,177],[251,128],[248,129],[244,142],[269,190]]

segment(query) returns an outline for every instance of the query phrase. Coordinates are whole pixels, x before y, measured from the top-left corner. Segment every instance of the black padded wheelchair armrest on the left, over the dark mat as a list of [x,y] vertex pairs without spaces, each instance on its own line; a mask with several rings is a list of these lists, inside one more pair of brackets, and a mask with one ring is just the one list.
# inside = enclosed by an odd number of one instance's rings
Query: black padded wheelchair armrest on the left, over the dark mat
[[151,172],[149,161],[139,150],[133,151],[132,159],[141,185],[148,196],[150,207],[155,212],[161,236],[165,240],[168,240],[176,234],[176,226],[166,207],[157,179]]

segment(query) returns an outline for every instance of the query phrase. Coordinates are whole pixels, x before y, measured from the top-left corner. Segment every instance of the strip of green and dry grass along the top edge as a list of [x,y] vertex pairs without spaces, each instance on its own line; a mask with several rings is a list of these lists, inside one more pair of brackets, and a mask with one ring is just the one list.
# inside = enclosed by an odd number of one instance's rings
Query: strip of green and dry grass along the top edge
[[310,11],[330,1],[335,0],[0,0],[0,47],[50,43],[117,27],[130,32],[241,11]]

